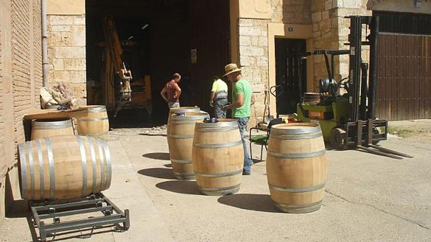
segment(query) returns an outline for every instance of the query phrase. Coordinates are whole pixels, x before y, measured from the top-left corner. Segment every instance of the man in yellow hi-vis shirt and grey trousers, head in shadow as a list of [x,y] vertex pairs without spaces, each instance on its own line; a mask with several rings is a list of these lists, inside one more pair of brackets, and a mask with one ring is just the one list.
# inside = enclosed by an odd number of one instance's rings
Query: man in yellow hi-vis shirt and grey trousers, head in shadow
[[214,117],[226,118],[226,110],[222,110],[227,105],[227,84],[219,77],[214,78],[213,88],[210,95],[210,106],[214,107]]

